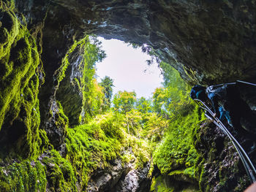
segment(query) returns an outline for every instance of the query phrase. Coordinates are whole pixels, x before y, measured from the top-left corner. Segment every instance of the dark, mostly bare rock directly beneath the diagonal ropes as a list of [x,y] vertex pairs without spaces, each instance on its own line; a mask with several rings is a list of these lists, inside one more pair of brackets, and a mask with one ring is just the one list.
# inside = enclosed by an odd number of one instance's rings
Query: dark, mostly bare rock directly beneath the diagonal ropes
[[[249,177],[232,142],[214,123],[204,122],[195,134],[195,147],[200,153],[197,178],[202,191],[244,191]],[[249,152],[244,139],[242,147]],[[249,157],[255,159],[255,154]],[[255,162],[254,162],[255,164]]]

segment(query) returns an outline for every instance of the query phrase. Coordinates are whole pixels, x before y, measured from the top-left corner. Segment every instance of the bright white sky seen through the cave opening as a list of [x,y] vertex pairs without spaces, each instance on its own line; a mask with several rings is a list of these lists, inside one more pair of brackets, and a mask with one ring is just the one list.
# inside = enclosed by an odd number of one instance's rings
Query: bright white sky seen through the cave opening
[[118,91],[135,91],[137,98],[143,96],[148,99],[153,96],[155,88],[162,86],[157,64],[148,66],[146,60],[150,56],[142,53],[140,47],[134,49],[116,39],[99,40],[107,57],[96,65],[97,80],[100,82],[106,75],[113,79],[113,95]]

